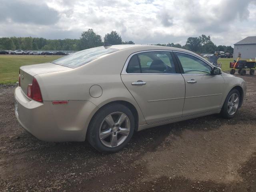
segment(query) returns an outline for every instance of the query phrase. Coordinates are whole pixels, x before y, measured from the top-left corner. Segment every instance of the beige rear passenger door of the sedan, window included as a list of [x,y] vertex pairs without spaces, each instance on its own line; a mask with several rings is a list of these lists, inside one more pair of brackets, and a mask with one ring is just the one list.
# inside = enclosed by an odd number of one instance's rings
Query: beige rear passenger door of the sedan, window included
[[121,78],[148,124],[182,116],[185,82],[170,51],[132,54]]

